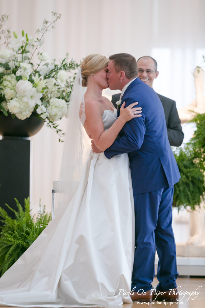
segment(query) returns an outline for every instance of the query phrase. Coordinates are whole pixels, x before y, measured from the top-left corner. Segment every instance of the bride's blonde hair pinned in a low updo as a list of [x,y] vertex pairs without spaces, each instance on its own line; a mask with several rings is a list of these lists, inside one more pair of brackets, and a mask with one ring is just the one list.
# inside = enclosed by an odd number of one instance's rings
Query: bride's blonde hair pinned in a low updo
[[101,71],[108,65],[109,60],[99,54],[91,54],[85,57],[81,63],[82,86],[87,87],[87,78],[91,74]]

